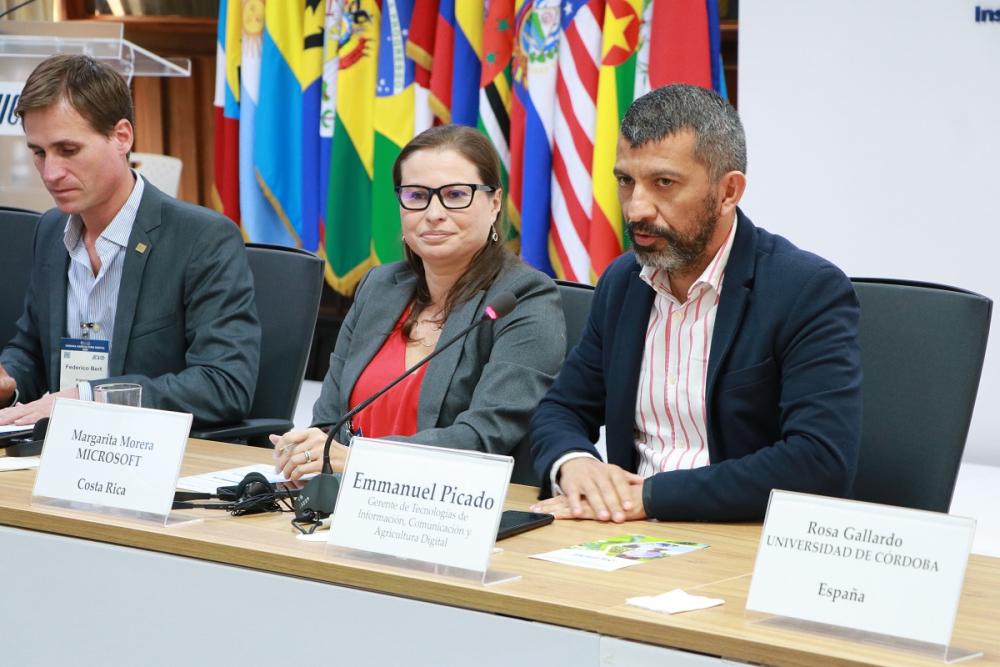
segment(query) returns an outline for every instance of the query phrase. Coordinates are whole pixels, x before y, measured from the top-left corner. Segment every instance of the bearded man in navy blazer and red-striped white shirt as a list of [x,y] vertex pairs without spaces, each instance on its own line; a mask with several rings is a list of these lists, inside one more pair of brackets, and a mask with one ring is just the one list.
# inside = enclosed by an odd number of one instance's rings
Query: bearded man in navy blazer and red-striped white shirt
[[858,301],[836,266],[750,222],[745,173],[742,124],[715,93],[666,86],[629,108],[615,177],[633,249],[532,419],[555,494],[535,511],[745,521],[772,489],[851,494]]

